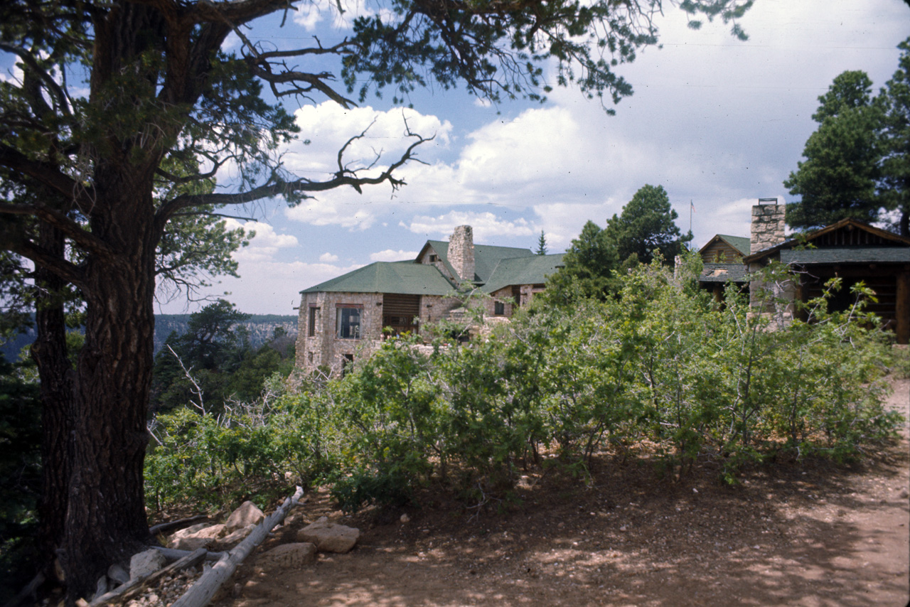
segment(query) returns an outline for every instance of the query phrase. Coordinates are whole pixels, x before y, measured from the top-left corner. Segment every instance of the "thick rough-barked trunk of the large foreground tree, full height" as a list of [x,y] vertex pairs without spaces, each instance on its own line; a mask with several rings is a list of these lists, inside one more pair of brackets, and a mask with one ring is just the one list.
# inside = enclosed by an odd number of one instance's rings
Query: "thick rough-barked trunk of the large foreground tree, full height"
[[[135,105],[139,132],[112,128],[96,154],[91,207],[80,210],[101,246],[86,257],[79,285],[86,300],[86,341],[75,385],[72,469],[66,511],[67,602],[91,596],[116,561],[150,543],[143,468],[155,330],[155,256],[163,225],[155,221],[154,174],[162,108],[154,99],[155,67],[143,53],[162,44],[156,9],[115,5],[96,20],[89,103],[106,111],[108,86],[124,86],[118,101]],[[118,75],[137,70],[126,84]],[[135,87],[136,96],[128,94]]]

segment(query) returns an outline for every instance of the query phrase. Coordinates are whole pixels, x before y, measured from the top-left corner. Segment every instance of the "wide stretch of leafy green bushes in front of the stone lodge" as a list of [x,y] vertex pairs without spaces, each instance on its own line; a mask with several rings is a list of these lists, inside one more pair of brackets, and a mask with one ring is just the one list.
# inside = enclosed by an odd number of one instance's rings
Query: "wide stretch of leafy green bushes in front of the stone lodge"
[[149,499],[216,505],[286,491],[291,472],[329,483],[346,511],[398,505],[430,483],[480,507],[507,500],[544,450],[583,476],[595,454],[647,446],[672,478],[710,458],[736,482],[743,466],[854,458],[894,435],[883,378],[901,350],[864,312],[868,289],[829,312],[836,281],[801,304],[772,266],[751,302],[730,288],[718,303],[697,269],[658,258],[614,275],[612,297],[532,305],[467,344],[452,327],[429,349],[387,339],[343,378],[285,393],[276,377],[217,417],[160,416]]

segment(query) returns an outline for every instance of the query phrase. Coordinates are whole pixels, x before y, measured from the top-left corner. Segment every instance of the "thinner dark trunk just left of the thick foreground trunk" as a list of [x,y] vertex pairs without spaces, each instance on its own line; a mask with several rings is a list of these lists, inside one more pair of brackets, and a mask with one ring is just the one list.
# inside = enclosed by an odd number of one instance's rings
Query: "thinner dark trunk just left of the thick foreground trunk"
[[[56,228],[42,224],[41,246],[63,258],[64,238]],[[41,496],[38,500],[41,553],[47,556],[42,571],[53,579],[56,550],[64,535],[69,491],[73,425],[72,368],[66,356],[66,319],[62,291],[63,279],[44,268],[35,270],[35,325],[37,339],[31,355],[41,379],[42,440]]]

